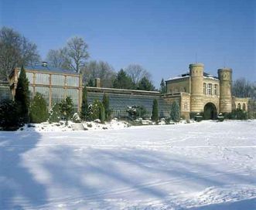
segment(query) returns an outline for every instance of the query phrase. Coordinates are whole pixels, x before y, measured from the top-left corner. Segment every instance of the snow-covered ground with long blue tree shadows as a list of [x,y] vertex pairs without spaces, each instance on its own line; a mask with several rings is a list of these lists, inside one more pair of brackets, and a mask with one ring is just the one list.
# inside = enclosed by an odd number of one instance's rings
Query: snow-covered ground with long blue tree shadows
[[0,132],[0,209],[256,209],[255,128]]

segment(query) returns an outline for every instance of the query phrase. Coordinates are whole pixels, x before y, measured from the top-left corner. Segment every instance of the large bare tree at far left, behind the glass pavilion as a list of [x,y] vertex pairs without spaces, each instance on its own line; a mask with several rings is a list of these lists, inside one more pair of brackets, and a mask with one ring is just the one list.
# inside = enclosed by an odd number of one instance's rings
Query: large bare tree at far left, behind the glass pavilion
[[39,62],[36,44],[13,29],[0,29],[0,80],[8,80],[9,73],[17,66]]

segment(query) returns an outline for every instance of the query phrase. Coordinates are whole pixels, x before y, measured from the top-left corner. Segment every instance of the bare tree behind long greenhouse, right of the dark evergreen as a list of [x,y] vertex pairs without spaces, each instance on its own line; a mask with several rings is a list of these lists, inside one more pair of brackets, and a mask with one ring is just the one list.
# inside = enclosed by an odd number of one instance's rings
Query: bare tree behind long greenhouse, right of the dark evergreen
[[144,69],[142,66],[138,64],[130,64],[125,68],[125,72],[128,74],[128,76],[131,76],[131,80],[135,85],[138,85],[138,82],[142,80],[143,77],[150,80],[151,75],[148,73],[146,69]]

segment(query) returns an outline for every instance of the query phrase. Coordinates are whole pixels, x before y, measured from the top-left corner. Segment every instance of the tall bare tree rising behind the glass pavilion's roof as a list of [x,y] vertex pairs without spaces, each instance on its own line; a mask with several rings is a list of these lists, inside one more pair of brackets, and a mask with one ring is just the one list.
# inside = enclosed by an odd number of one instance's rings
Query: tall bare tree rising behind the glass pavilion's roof
[[70,62],[70,67],[77,73],[80,73],[81,67],[84,66],[86,60],[89,58],[87,52],[88,46],[81,37],[73,37],[68,40],[67,46],[64,47],[64,56]]

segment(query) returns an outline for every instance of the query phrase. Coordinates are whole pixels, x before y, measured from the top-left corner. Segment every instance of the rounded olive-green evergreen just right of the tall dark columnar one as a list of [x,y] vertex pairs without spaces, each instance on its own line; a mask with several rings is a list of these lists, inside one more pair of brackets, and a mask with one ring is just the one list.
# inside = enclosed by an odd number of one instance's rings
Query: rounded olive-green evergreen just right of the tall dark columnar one
[[35,124],[43,123],[48,118],[48,111],[46,107],[46,100],[43,98],[43,95],[36,93],[36,96],[33,98],[30,106],[30,121]]

